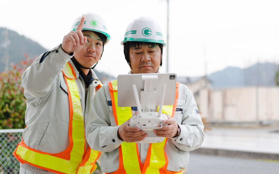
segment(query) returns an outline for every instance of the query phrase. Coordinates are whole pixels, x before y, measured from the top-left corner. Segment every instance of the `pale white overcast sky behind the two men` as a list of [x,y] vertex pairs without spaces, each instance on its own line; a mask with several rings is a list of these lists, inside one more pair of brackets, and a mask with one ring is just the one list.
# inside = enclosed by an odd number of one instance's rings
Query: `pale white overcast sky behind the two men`
[[[245,68],[260,62],[279,63],[278,0],[169,0],[169,72],[205,75],[227,66]],[[96,69],[115,77],[129,66],[120,42],[126,26],[139,16],[153,17],[167,41],[166,0],[13,0],[1,1],[0,27],[18,32],[46,49],[62,42],[78,16],[100,14],[110,42]]]

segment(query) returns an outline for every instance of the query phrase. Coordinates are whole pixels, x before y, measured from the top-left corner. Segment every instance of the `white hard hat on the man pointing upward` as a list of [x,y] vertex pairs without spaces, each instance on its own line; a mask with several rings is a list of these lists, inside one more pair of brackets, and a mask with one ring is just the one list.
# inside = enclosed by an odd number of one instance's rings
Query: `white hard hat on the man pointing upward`
[[85,21],[84,21],[82,30],[91,30],[91,31],[95,31],[95,32],[104,34],[107,37],[107,40],[105,42],[105,44],[107,44],[108,41],[110,41],[110,35],[108,34],[108,30],[107,30],[105,21],[102,19],[102,17],[99,14],[90,13],[90,12],[82,14],[80,17],[78,17],[74,21],[74,23],[71,27],[71,31],[76,30],[78,23],[81,21],[81,18],[83,16],[85,17]]

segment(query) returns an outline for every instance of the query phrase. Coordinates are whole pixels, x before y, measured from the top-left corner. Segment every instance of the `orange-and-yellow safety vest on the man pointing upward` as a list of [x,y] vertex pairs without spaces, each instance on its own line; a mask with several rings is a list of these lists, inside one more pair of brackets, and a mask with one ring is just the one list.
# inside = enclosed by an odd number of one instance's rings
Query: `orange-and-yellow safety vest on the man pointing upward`
[[[71,64],[65,64],[62,70],[69,96],[70,120],[68,148],[60,153],[46,153],[28,147],[22,141],[13,155],[22,164],[27,163],[37,168],[59,174],[90,174],[96,169],[96,160],[101,152],[88,147],[86,151],[84,119],[81,102],[76,86],[76,73]],[[100,88],[101,86],[98,86]],[[74,130],[74,131],[73,131]]]

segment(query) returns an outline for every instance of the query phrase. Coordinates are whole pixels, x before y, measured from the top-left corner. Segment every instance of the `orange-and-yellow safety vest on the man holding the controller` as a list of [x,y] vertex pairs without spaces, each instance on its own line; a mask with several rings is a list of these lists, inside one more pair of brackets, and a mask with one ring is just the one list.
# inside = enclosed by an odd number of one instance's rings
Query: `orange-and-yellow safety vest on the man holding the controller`
[[[121,125],[132,117],[131,107],[119,107],[117,103],[117,80],[108,82],[110,88],[110,96],[112,100],[112,110],[117,125]],[[163,113],[174,116],[177,99],[179,94],[179,83],[176,82],[176,98],[174,105],[163,106]],[[159,109],[159,108],[158,108]],[[171,174],[181,173],[167,170],[168,157],[164,151],[164,146],[167,143],[167,138],[160,143],[151,143],[147,152],[144,165],[140,161],[140,155],[137,143],[123,142],[119,146],[119,168],[113,174]]]

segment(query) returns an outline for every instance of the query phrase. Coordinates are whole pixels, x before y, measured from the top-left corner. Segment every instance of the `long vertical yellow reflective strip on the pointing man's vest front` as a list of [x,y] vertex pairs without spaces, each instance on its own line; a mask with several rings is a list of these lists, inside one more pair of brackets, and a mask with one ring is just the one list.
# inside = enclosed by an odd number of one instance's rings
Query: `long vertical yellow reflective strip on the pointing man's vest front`
[[81,100],[79,97],[78,87],[76,86],[75,80],[67,78],[67,82],[71,93],[73,106],[72,138],[74,143],[73,149],[70,153],[70,160],[81,163],[85,147],[84,123],[83,114],[81,110]]

